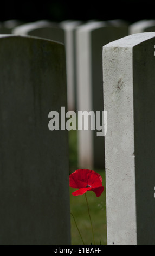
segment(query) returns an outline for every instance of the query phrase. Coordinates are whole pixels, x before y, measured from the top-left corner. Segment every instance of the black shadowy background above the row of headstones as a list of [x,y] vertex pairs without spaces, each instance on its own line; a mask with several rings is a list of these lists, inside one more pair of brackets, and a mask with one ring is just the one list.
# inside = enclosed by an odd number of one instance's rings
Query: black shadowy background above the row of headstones
[[155,1],[2,1],[0,21],[9,19],[18,19],[24,22],[40,19],[57,22],[66,19],[83,21],[123,19],[133,23],[142,19],[155,19]]

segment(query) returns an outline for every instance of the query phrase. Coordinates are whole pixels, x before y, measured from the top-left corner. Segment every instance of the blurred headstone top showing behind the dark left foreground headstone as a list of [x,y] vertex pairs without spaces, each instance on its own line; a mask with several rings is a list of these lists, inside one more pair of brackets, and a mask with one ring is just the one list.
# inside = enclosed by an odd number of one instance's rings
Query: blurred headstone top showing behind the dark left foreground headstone
[[17,26],[12,34],[31,35],[64,43],[64,31],[56,23],[36,21]]

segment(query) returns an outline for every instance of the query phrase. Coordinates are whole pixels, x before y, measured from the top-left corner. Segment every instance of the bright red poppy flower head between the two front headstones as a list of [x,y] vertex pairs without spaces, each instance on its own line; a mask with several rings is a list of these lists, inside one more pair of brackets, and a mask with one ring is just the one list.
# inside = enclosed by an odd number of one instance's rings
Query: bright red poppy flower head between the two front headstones
[[93,191],[96,197],[100,197],[104,191],[102,186],[102,177],[94,170],[79,169],[69,175],[69,186],[78,188],[73,192],[73,196],[79,196],[87,191]]

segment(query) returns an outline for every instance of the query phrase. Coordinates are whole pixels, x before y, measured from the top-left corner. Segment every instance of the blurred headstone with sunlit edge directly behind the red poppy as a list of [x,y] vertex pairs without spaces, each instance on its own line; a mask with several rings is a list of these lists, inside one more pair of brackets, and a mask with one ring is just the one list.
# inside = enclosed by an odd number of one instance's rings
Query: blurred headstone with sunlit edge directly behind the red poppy
[[[102,96],[102,46],[127,35],[126,27],[89,22],[76,31],[78,111],[104,111]],[[104,136],[96,130],[78,131],[80,168],[104,168]]]

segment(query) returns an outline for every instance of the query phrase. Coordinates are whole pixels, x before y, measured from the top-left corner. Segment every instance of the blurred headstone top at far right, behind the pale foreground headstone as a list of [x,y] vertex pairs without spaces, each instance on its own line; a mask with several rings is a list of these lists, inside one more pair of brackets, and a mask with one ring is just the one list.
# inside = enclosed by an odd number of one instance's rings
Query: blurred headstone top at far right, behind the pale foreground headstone
[[129,35],[155,31],[155,20],[140,20],[128,27]]

